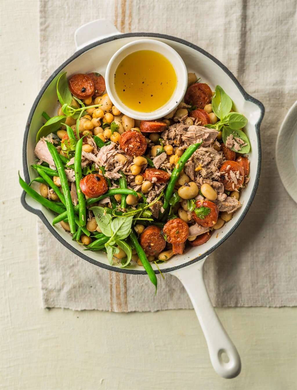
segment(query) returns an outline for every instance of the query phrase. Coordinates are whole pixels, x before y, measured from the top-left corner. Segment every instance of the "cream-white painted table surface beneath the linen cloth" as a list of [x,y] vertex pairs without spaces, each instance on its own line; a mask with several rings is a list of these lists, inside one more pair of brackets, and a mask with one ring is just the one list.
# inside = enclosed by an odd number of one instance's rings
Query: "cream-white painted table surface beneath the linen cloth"
[[218,309],[242,359],[231,380],[213,371],[192,310],[41,309],[37,217],[21,207],[17,183],[23,130],[39,90],[38,1],[2,0],[0,7],[0,389],[295,389],[296,308]]

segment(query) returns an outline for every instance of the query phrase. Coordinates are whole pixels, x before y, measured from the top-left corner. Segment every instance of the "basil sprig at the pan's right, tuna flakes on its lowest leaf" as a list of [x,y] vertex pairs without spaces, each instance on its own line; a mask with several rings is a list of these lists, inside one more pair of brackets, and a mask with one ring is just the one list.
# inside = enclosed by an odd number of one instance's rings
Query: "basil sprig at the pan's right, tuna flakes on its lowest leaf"
[[234,152],[238,153],[248,153],[250,151],[250,141],[245,133],[241,130],[247,124],[248,120],[244,115],[239,114],[238,112],[230,112],[232,108],[232,100],[226,94],[224,89],[217,85],[215,87],[215,94],[211,101],[212,110],[215,115],[220,119],[216,124],[207,124],[205,125],[209,129],[216,129],[217,131],[222,130],[222,139],[224,144],[227,142],[227,137],[231,134],[235,138],[240,138],[246,144],[241,146],[241,149],[238,151],[232,147],[231,149]]

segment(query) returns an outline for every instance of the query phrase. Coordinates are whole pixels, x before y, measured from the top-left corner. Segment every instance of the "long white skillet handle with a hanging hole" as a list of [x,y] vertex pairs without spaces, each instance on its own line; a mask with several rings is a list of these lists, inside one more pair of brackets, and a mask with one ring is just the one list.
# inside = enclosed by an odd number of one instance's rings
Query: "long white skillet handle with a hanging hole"
[[[236,347],[227,335],[213,308],[203,280],[206,257],[187,267],[172,271],[185,287],[204,333],[213,368],[223,378],[235,378],[241,370]],[[226,362],[224,356],[229,358]]]

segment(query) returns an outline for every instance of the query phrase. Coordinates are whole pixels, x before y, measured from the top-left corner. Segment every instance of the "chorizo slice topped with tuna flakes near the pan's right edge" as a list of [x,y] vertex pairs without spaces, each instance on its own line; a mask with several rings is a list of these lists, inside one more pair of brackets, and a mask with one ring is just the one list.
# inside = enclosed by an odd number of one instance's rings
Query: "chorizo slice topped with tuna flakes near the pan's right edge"
[[225,190],[234,191],[243,186],[245,170],[238,162],[231,160],[225,161],[220,167],[220,172],[222,173],[221,181],[224,184]]

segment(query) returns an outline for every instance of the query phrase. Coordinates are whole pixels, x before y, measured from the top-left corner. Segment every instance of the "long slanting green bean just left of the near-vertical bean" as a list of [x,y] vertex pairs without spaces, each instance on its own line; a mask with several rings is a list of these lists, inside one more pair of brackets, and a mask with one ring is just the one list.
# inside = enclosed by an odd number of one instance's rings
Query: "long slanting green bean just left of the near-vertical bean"
[[73,203],[70,195],[70,190],[68,187],[68,181],[65,174],[65,170],[62,161],[59,157],[57,149],[50,142],[46,142],[46,143],[59,173],[61,187],[63,189],[63,195],[65,197],[65,205],[66,205],[66,211],[67,211],[67,216],[68,216],[68,221],[70,226],[70,232],[73,234],[76,230],[75,220],[74,220],[74,210],[73,210]]

